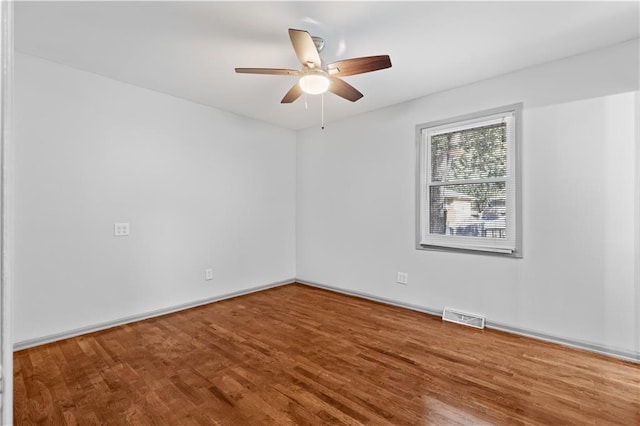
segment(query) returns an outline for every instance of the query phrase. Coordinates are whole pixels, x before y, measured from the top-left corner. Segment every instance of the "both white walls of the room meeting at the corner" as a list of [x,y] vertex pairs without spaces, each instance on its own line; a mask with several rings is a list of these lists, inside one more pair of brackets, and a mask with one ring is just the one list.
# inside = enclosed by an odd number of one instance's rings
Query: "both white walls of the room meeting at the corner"
[[[297,276],[640,353],[638,71],[636,40],[296,135],[18,54],[14,339]],[[415,125],[514,102],[524,258],[415,250]]]

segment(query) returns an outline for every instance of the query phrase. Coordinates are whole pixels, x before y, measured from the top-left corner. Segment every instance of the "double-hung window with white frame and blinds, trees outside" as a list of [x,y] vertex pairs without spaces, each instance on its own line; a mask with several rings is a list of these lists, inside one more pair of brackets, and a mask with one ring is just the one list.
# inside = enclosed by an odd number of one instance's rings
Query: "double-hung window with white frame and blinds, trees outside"
[[417,126],[417,248],[521,256],[521,109]]

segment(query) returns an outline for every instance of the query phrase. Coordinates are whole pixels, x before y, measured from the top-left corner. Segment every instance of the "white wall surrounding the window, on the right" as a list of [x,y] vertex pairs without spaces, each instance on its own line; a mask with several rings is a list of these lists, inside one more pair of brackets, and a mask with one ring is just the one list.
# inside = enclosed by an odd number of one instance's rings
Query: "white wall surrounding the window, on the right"
[[[638,75],[635,40],[299,132],[298,278],[640,353]],[[524,257],[416,250],[415,126],[516,102]]]

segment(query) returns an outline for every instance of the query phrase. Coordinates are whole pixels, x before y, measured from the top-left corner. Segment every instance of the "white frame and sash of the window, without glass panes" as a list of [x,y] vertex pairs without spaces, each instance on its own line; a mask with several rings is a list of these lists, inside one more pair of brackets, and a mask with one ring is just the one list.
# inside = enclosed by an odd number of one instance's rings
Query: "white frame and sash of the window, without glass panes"
[[[469,181],[431,182],[432,136],[474,127],[505,122],[507,124],[507,176]],[[520,139],[522,104],[506,105],[459,117],[438,120],[416,126],[416,248],[420,250],[448,250],[469,253],[522,257],[522,221],[520,188]],[[459,235],[431,234],[429,206],[435,185],[505,182],[506,235],[505,239],[490,239]]]

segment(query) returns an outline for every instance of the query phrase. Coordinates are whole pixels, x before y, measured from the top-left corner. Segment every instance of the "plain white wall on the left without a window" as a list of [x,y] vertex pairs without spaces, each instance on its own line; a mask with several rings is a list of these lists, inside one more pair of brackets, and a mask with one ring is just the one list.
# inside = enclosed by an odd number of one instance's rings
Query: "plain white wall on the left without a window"
[[17,54],[14,341],[295,277],[295,140]]

